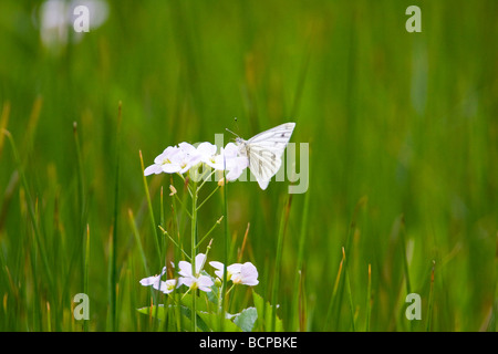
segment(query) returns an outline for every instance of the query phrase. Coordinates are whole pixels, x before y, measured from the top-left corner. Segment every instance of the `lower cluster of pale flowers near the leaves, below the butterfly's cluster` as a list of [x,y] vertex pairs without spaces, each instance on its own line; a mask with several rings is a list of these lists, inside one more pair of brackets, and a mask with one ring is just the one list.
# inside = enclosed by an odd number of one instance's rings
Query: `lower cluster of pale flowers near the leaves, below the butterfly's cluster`
[[[166,267],[158,275],[153,275],[142,279],[139,282],[144,287],[153,287],[156,290],[168,294],[180,285],[186,285],[191,290],[199,289],[204,292],[210,292],[211,287],[215,284],[212,278],[203,274],[203,268],[206,263],[206,254],[199,253],[195,259],[195,273],[193,273],[193,267],[190,262],[179,261],[178,262],[178,279],[160,280],[160,278],[166,273]],[[216,269],[215,274],[219,278],[224,278],[224,263],[212,261],[209,264]],[[231,281],[234,284],[242,284],[255,287],[259,283],[258,281],[258,270],[251,262],[234,263],[227,267],[227,281]]]

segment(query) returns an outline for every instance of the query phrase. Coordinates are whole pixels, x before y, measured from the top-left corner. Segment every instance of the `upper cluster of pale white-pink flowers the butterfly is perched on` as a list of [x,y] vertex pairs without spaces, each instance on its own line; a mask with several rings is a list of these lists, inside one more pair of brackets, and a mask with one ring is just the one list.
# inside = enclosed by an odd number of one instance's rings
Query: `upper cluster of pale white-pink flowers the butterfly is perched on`
[[249,160],[239,154],[239,148],[234,143],[221,147],[217,154],[217,146],[211,143],[200,143],[197,147],[188,143],[177,146],[168,146],[154,159],[154,165],[144,170],[144,175],[152,174],[185,174],[191,168],[198,168],[205,164],[215,170],[226,170],[227,180],[236,180],[248,167]]

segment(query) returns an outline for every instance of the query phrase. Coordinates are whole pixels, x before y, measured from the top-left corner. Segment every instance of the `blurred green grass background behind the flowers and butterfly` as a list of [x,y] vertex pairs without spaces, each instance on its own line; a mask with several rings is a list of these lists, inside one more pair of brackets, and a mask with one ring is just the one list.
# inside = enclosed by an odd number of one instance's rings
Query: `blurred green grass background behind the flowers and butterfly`
[[[0,2],[0,124],[12,134],[31,196],[30,200],[2,135],[1,331],[83,329],[82,321],[72,317],[72,299],[83,292],[86,223],[89,327],[110,329],[107,270],[118,102],[115,330],[151,329],[135,310],[151,302],[151,293],[138,283],[151,274],[143,271],[128,209],[151,271],[158,273],[162,267],[138,152],[148,166],[168,145],[214,143],[215,134],[227,127],[248,138],[284,122],[297,122],[291,142],[310,144],[309,210],[303,218],[307,194],[292,196],[278,284],[286,330],[353,329],[344,273],[338,304],[329,311],[350,232],[355,330],[365,329],[369,264],[370,330],[496,330],[498,2],[98,4],[91,8],[97,11],[91,11],[90,22],[95,24],[100,17],[102,23],[77,37],[71,12],[43,20],[43,9],[53,12],[60,6]],[[405,30],[405,10],[412,4],[422,9],[421,33]],[[44,28],[53,17],[70,22]],[[225,138],[232,136],[226,133]],[[159,220],[159,188],[167,190],[169,176],[147,180]],[[250,222],[243,260],[258,268],[260,284],[255,290],[267,299],[274,285],[287,188],[288,183],[271,183],[266,191],[256,183],[228,188],[230,254],[235,260]],[[200,210],[200,233],[222,214],[221,197],[217,194]],[[355,214],[360,200],[366,202]],[[39,240],[30,205],[40,225]],[[167,226],[169,211],[165,192]],[[301,231],[305,238],[297,303]],[[222,228],[214,232],[212,259],[222,254]],[[40,243],[52,284],[45,279]],[[404,313],[405,254],[411,290],[422,296],[421,321],[411,322]],[[236,302],[250,304],[248,299],[240,290]]]

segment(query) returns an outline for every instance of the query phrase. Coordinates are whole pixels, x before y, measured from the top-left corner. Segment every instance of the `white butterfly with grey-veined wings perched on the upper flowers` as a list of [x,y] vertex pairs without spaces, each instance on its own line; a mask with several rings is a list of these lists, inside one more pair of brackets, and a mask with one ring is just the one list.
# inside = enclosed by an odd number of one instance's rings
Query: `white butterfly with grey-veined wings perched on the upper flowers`
[[236,138],[239,154],[249,160],[249,168],[261,189],[267,189],[282,165],[282,154],[294,131],[295,123],[284,123],[255,135],[249,140]]

